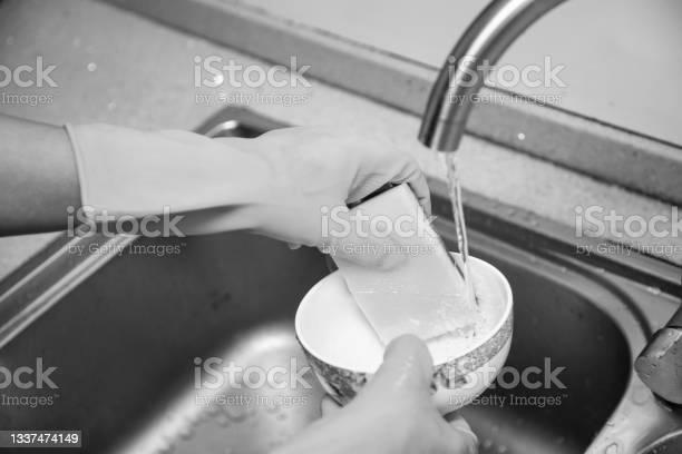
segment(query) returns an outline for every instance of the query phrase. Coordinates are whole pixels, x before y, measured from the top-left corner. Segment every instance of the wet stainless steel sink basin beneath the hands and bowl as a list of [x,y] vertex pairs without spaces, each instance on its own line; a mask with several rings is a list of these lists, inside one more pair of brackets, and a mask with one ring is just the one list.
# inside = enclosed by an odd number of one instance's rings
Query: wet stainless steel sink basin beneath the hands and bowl
[[[199,130],[255,136],[274,127],[226,109]],[[452,241],[446,193],[431,184],[437,228]],[[565,254],[554,246],[556,230],[517,230],[506,207],[466,200],[472,254],[497,266],[514,290],[514,343],[500,381],[528,367],[563,367],[556,376],[565,385],[498,383],[467,407],[481,453],[655,453],[652,443],[682,427],[680,412],[651,394],[632,363],[678,302]],[[196,357],[263,369],[291,368],[295,358],[304,367],[293,316],[328,273],[316,250],[246,234],[139,238],[105,261],[0,351],[8,367],[42,357],[58,367],[59,386],[13,389],[53,403],[3,407],[1,428],[81,430],[79,452],[88,453],[264,453],[319,417],[322,391],[310,372],[310,388],[195,387]],[[30,280],[20,290],[30,294]]]

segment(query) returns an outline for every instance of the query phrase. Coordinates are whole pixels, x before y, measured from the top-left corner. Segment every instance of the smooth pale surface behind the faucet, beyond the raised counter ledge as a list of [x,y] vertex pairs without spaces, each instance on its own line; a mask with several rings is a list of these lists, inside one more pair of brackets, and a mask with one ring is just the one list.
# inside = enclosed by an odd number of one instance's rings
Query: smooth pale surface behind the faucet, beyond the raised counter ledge
[[[224,1],[440,67],[489,0],[396,1],[390,7],[384,0]],[[563,109],[682,144],[681,18],[679,0],[569,0],[534,23],[498,67],[543,67],[549,58],[553,67],[563,67],[557,75],[566,87],[507,88],[528,96],[555,93],[553,103]]]

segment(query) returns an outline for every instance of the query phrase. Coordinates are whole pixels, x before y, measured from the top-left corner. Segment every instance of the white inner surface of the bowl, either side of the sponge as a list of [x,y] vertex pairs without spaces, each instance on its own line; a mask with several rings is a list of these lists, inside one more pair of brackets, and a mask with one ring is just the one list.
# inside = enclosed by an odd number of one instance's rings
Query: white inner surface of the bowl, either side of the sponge
[[[470,338],[427,342],[435,364],[485,343],[499,328],[510,305],[507,284],[493,266],[471,257],[470,270],[484,324]],[[296,313],[296,334],[310,354],[349,371],[373,373],[383,357],[384,346],[339,272],[327,276],[305,295]]]

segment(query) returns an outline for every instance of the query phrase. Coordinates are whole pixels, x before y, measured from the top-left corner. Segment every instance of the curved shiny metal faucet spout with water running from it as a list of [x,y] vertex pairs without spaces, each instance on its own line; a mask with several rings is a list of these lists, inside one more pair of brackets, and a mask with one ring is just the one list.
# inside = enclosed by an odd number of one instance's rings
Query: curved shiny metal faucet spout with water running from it
[[455,151],[486,67],[495,65],[524,30],[564,0],[494,0],[471,22],[440,69],[426,106],[419,140]]

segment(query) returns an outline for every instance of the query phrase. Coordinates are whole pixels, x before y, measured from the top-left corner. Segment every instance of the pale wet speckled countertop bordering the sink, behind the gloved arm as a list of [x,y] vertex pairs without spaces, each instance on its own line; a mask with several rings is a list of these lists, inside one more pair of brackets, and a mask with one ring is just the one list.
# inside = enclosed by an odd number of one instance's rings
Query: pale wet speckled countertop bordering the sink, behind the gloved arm
[[[245,105],[295,125],[347,125],[383,131],[397,148],[413,154],[427,172],[444,175],[436,155],[415,139],[419,124],[416,117],[314,80],[310,88],[295,92],[264,92],[243,86],[227,97],[220,96],[217,89],[195,87],[196,56],[266,67],[232,49],[109,4],[8,0],[0,6],[0,61],[13,68],[36,65],[41,58],[43,66],[55,65],[50,76],[57,87],[4,87],[0,90],[0,111],[51,124],[105,121],[136,128],[191,129],[227,105]],[[7,95],[22,95],[21,103]],[[666,204],[476,138],[465,138],[460,159],[465,188],[565,225],[575,224],[576,206],[601,205],[645,218],[670,216]],[[52,235],[1,238],[0,278]],[[679,238],[645,235],[637,240],[676,246],[675,251],[663,256],[682,264]]]

